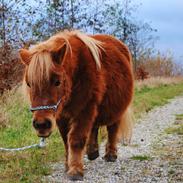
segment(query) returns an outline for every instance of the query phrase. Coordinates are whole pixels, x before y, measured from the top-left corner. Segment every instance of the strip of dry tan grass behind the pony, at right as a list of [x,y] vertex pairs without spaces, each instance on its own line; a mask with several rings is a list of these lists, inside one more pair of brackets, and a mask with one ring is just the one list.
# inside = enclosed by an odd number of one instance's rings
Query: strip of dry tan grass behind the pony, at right
[[183,77],[151,77],[145,80],[136,81],[135,88],[139,91],[145,87],[156,88],[178,83],[183,83]]

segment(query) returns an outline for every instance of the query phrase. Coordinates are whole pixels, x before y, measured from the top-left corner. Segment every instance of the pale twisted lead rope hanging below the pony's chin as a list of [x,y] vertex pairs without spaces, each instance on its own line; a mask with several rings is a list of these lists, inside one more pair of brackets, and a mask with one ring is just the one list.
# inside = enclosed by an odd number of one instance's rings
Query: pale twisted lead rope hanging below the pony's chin
[[43,148],[45,146],[46,146],[45,138],[40,138],[39,144],[33,144],[33,145],[30,145],[30,146],[24,146],[24,147],[20,147],[20,148],[2,148],[1,147],[0,151],[10,151],[10,152],[13,152],[13,151],[23,151],[23,150],[31,149],[31,148],[35,148],[35,147]]

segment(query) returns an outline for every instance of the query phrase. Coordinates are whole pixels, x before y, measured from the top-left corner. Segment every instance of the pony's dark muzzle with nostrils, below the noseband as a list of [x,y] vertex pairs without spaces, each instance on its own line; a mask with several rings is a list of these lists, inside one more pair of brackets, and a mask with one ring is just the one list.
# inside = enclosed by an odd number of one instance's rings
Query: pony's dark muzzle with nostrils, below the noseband
[[33,120],[33,127],[39,137],[48,137],[51,134],[52,122],[49,119],[43,121]]

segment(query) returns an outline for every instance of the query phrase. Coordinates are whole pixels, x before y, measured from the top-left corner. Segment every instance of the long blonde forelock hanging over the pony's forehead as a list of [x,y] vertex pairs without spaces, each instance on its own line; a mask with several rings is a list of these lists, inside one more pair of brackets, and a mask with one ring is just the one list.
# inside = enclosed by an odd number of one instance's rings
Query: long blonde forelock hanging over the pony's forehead
[[27,80],[32,87],[40,90],[50,78],[50,68],[52,66],[51,55],[49,52],[39,52],[32,56],[27,68]]

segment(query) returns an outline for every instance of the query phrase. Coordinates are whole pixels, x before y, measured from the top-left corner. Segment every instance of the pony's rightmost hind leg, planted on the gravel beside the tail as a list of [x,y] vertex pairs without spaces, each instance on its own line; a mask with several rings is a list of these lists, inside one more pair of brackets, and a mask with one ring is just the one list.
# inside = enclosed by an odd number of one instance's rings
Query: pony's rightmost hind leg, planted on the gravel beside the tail
[[114,123],[111,126],[107,126],[108,142],[106,145],[106,154],[104,156],[104,159],[109,162],[114,162],[117,159],[117,141],[119,126],[119,123]]

